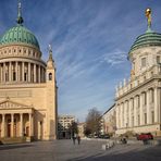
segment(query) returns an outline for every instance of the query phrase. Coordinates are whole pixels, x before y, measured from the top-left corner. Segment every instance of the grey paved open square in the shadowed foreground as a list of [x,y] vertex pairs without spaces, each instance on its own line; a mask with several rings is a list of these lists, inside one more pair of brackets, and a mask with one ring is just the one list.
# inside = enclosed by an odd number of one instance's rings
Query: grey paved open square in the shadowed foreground
[[129,144],[102,150],[103,141],[35,141],[0,146],[0,161],[161,161],[161,146]]

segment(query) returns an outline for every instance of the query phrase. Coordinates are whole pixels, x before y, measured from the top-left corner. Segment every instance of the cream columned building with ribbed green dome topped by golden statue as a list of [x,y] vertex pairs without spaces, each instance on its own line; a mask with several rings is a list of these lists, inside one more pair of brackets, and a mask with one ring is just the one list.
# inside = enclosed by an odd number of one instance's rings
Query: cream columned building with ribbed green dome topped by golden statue
[[116,89],[116,134],[151,132],[161,135],[161,34],[151,29],[151,11],[146,11],[148,29],[137,37],[128,59],[129,81]]

